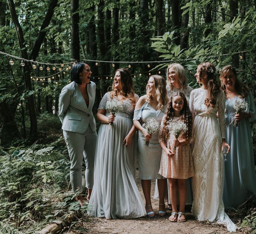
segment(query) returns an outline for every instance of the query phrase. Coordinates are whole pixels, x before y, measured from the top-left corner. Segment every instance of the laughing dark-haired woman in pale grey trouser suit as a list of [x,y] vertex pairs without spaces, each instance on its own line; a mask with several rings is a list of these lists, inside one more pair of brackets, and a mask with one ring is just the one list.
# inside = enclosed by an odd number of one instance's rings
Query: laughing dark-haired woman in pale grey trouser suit
[[[96,124],[92,107],[96,85],[90,81],[90,67],[85,63],[75,63],[71,69],[71,83],[60,93],[59,117],[63,136],[70,157],[70,181],[73,190],[82,190],[82,163],[85,159],[87,199],[93,188],[94,154],[97,140]],[[83,205],[82,195],[76,200]]]

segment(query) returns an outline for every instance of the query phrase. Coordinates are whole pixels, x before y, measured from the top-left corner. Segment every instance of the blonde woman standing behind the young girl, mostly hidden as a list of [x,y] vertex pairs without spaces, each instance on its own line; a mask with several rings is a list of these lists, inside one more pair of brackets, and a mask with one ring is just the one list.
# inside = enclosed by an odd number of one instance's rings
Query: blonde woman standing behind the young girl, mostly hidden
[[[188,85],[186,72],[184,67],[181,64],[179,63],[169,64],[169,66],[166,69],[166,82],[167,82],[167,85],[166,85],[167,96],[169,99],[175,92],[182,92],[186,96],[189,102],[190,93],[193,90],[193,88],[191,88]],[[169,198],[169,194],[170,194],[169,183],[167,184],[168,184],[168,194],[166,195],[166,197],[168,197],[168,205],[169,205],[169,208],[171,208],[171,201]],[[192,185],[192,181],[191,181],[191,178],[189,178],[186,181],[186,186],[187,186],[186,205],[191,205],[193,202],[193,192],[192,192],[191,185]],[[159,199],[157,186],[155,187],[154,199]]]

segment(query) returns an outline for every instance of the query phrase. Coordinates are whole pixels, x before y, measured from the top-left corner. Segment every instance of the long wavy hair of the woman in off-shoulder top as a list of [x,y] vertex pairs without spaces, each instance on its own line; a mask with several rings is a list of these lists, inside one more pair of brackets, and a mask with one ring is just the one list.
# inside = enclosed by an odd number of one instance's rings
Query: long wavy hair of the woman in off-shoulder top
[[[162,76],[153,75],[149,78],[153,78],[155,82],[155,90],[156,90],[156,99],[157,99],[157,109],[162,109],[164,105],[168,103],[167,90],[166,90],[166,80]],[[151,104],[152,94],[148,92],[148,85],[146,86],[147,91],[147,102]]]

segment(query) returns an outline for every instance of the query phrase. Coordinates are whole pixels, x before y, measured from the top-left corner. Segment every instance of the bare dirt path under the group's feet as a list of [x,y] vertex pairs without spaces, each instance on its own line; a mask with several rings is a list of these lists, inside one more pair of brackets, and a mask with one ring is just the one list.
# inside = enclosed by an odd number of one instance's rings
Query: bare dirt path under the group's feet
[[[138,176],[136,177],[136,183],[141,193],[141,197],[144,200],[142,188]],[[154,181],[152,181],[152,188],[154,188]],[[152,194],[153,196],[153,189]],[[158,200],[152,198],[153,209],[158,211]],[[167,202],[166,202],[167,206]],[[107,220],[103,218],[91,218],[90,227],[88,227],[88,233],[178,233],[178,234],[217,234],[217,233],[229,233],[226,227],[217,225],[214,223],[198,222],[191,214],[191,207],[187,207],[187,221],[186,222],[170,222],[168,217],[171,210],[167,209],[167,215],[159,217],[156,214],[156,218],[142,217],[138,219],[112,219]],[[238,233],[244,233],[238,231]]]

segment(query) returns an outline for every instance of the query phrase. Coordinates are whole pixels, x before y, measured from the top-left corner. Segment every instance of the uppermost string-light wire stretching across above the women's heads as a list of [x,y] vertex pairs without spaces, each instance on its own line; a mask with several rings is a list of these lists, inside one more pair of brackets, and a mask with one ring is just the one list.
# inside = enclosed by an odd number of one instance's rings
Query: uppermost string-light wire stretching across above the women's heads
[[[229,53],[229,54],[212,55],[212,56],[207,56],[206,58],[242,54],[242,53],[246,53],[246,52],[248,52],[248,50],[239,51],[239,52],[236,52],[236,53]],[[67,62],[67,63],[42,63],[42,62],[37,62],[37,61],[34,61],[34,60],[27,60],[27,59],[17,57],[17,56],[11,55],[11,54],[7,54],[7,53],[2,52],[2,51],[0,51],[0,54],[6,55],[6,56],[9,56],[9,57],[12,57],[12,58],[16,58],[16,59],[19,59],[19,60],[23,60],[23,61],[26,61],[26,62],[30,62],[30,63],[36,63],[36,64],[42,64],[42,65],[51,65],[51,66],[56,66],[56,65],[61,66],[61,65],[67,65],[67,64],[72,64],[74,62],[77,62],[76,60],[71,59],[73,61],[72,62]],[[187,58],[187,59],[184,59],[183,61],[191,61],[191,60],[195,60],[195,59],[194,58]],[[84,59],[84,61],[102,62],[102,63],[167,63],[167,62],[173,62],[173,60],[164,60],[164,61],[103,61],[103,60],[89,60],[89,59]]]

